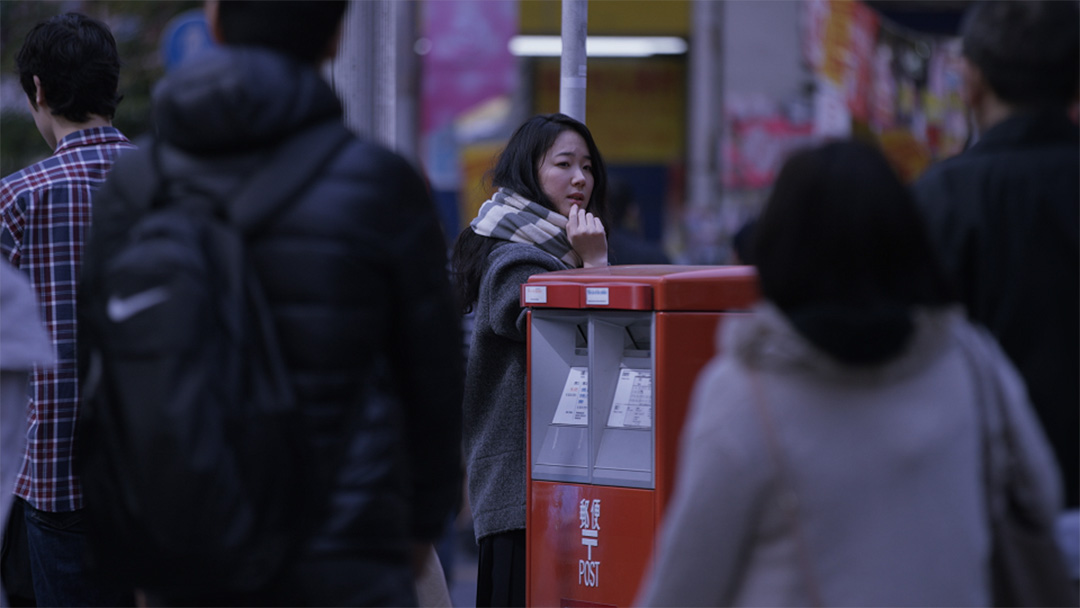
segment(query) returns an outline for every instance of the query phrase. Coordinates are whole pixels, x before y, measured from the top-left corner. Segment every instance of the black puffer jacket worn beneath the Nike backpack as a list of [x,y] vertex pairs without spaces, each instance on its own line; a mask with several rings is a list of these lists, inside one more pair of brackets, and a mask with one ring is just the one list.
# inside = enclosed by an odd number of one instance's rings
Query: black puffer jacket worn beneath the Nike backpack
[[[312,66],[238,48],[170,75],[154,112],[160,140],[189,157],[163,157],[162,172],[224,195],[276,144],[341,107]],[[122,197],[103,194],[95,240],[130,221]],[[252,243],[312,461],[329,465],[335,437],[350,437],[328,515],[293,573],[307,589],[275,604],[394,604],[364,587],[407,570],[406,541],[436,539],[456,506],[463,365],[442,234],[416,171],[355,139]],[[377,395],[357,398],[372,382]],[[364,411],[345,428],[353,407]]]

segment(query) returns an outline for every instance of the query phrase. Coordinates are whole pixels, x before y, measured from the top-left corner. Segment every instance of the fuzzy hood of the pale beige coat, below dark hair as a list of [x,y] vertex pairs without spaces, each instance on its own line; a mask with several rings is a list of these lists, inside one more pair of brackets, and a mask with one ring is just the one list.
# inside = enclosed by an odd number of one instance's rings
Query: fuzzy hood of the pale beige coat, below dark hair
[[799,333],[780,309],[759,303],[753,314],[734,317],[720,325],[720,352],[740,363],[765,370],[805,371],[859,383],[900,379],[930,365],[946,350],[949,327],[962,321],[958,308],[916,309],[914,330],[903,349],[877,365],[849,365],[815,347]]

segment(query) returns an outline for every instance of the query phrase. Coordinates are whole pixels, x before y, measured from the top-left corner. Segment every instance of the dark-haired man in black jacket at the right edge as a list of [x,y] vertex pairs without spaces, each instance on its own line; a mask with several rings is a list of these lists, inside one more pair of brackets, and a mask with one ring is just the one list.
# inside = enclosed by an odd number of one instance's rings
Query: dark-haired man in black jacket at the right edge
[[1061,540],[1080,579],[1080,130],[1069,118],[1080,8],[978,3],[961,33],[962,95],[977,138],[931,166],[915,195],[968,315],[1027,382],[1062,469]]

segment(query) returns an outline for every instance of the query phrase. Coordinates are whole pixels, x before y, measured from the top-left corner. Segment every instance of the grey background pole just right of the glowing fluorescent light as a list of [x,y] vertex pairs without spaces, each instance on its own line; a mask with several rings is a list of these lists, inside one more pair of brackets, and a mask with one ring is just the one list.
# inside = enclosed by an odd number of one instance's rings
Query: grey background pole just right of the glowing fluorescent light
[[687,200],[690,208],[720,204],[719,154],[724,117],[724,2],[693,3],[690,38],[690,107]]

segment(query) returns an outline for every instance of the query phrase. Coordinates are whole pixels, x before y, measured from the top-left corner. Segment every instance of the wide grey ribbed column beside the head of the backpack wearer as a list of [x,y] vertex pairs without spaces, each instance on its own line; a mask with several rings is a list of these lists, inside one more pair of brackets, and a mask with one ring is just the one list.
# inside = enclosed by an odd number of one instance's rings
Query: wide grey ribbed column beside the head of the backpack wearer
[[346,124],[418,163],[416,0],[351,0],[329,80]]

